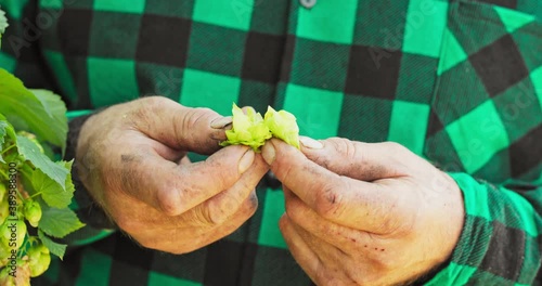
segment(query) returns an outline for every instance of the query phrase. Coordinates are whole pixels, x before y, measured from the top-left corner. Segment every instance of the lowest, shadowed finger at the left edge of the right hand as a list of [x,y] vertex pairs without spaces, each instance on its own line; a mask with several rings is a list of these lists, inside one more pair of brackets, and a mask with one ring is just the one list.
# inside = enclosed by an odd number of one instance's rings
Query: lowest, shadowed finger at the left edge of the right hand
[[279,227],[281,229],[282,236],[294,259],[305,273],[307,273],[314,283],[318,283],[318,271],[321,268],[320,258],[309,248],[307,243],[302,240],[287,216],[282,216],[279,221]]

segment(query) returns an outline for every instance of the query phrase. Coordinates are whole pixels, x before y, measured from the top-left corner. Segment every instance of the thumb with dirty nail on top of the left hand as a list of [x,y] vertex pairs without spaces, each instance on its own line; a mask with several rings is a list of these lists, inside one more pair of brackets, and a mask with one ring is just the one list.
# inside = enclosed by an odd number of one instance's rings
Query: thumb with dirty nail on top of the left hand
[[208,108],[190,108],[166,98],[152,96],[139,101],[127,115],[127,123],[147,136],[176,150],[211,154],[225,140],[224,128],[231,118]]

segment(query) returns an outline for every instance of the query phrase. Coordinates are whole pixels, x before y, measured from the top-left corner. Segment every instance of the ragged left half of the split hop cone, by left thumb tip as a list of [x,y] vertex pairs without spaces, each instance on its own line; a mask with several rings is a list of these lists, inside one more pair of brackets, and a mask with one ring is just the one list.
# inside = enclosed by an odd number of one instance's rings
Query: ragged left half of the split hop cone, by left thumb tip
[[266,143],[266,140],[272,136],[261,114],[248,109],[245,115],[235,104],[233,104],[232,114],[232,129],[225,131],[228,140],[220,143],[220,145],[229,146],[243,144],[258,152],[259,147]]

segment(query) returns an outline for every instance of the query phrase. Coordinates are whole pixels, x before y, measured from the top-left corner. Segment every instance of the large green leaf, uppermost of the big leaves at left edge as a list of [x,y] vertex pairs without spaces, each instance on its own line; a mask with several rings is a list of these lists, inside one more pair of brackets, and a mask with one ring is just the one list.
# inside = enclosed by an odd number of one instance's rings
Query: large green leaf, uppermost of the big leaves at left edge
[[15,129],[30,131],[40,140],[64,150],[67,135],[64,103],[50,92],[34,92],[36,94],[16,77],[0,68],[0,113],[8,117]]

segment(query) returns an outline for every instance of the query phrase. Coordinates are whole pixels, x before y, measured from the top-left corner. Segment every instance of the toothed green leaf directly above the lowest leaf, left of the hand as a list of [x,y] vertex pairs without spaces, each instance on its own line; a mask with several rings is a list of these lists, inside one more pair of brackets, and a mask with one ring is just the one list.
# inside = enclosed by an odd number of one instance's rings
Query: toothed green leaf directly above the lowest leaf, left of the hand
[[[56,165],[62,166],[62,168],[72,169],[73,161],[66,162],[61,161]],[[40,170],[36,170],[31,178],[33,187],[36,193],[41,193],[41,198],[50,206],[54,208],[67,208],[72,198],[74,197],[74,183],[72,182],[72,174],[68,173],[65,185],[63,188],[57,182],[49,178]]]

